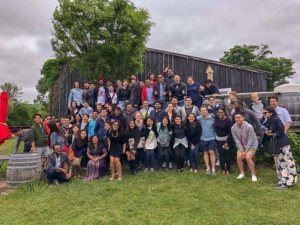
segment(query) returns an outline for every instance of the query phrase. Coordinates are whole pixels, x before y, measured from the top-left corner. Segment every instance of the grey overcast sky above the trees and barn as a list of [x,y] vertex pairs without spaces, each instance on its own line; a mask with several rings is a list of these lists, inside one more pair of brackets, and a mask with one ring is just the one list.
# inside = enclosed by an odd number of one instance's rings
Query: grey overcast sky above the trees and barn
[[[300,82],[300,0],[135,0],[156,24],[148,47],[218,60],[237,44],[268,44],[291,58]],[[32,101],[43,62],[53,57],[56,0],[0,1],[0,83],[23,88]]]

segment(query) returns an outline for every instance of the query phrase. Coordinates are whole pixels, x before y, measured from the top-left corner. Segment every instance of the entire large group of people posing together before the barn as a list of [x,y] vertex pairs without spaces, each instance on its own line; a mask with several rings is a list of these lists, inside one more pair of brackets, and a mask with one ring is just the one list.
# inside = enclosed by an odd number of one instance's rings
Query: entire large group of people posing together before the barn
[[[47,178],[50,184],[61,183],[84,174],[85,180],[109,175],[122,180],[122,168],[154,172],[155,168],[182,172],[199,171],[203,153],[205,173],[231,173],[234,150],[240,171],[245,177],[244,161],[257,181],[255,153],[262,140],[276,136],[281,153],[274,156],[280,190],[297,181],[296,165],[287,131],[291,124],[288,111],[271,97],[269,106],[251,95],[247,106],[230,92],[229,104],[218,104],[218,86],[211,80],[202,85],[166,68],[151,74],[145,82],[132,75],[114,83],[104,78],[98,85],[75,82],[68,99],[67,115],[58,120],[48,115],[34,116],[31,129],[14,130],[18,137],[14,152],[24,141],[24,152],[38,152],[48,157]],[[208,97],[207,97],[208,96]],[[207,97],[208,105],[203,105]]]

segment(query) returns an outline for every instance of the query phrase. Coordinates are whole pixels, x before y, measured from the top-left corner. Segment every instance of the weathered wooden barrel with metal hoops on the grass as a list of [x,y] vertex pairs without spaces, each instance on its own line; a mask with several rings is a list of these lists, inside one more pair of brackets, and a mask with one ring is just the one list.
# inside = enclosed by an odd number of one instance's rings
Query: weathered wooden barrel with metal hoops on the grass
[[37,153],[11,154],[6,169],[9,186],[18,186],[40,178],[41,156]]

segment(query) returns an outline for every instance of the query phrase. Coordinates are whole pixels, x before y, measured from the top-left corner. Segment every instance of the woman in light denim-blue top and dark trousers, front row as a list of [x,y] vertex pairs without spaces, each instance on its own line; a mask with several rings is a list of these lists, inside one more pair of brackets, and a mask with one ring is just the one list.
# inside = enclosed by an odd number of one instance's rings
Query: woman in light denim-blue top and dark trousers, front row
[[165,169],[168,170],[169,163],[170,163],[170,157],[169,154],[171,152],[170,148],[170,141],[171,141],[171,135],[172,135],[172,129],[170,120],[167,116],[165,116],[161,122],[157,123],[157,133],[158,133],[158,151],[159,151],[159,157],[160,157],[160,166],[162,169],[163,165],[165,163],[166,167]]

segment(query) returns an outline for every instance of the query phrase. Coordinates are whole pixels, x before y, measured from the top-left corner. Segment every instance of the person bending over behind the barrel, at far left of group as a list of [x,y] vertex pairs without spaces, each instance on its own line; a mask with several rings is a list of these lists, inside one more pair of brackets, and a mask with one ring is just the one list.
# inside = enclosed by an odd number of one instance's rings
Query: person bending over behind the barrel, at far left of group
[[16,140],[16,145],[13,148],[13,154],[18,153],[19,147],[21,142],[24,142],[24,148],[23,152],[27,153],[30,152],[31,149],[31,139],[30,139],[30,129],[19,129],[19,128],[14,128],[12,130],[12,133],[17,137]]

